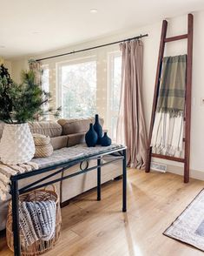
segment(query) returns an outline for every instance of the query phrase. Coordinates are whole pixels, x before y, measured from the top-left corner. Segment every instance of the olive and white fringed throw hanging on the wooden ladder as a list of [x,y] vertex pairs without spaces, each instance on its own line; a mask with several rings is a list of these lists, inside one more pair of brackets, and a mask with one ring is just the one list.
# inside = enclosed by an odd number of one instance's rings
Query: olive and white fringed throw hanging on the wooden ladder
[[151,146],[153,152],[181,157],[187,55],[164,57]]

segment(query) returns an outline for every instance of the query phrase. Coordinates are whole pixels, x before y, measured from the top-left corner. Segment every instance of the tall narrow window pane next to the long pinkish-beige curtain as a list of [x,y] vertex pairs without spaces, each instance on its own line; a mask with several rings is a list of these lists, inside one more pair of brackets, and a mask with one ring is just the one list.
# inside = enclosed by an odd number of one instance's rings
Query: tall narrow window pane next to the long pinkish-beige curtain
[[109,54],[109,102],[108,102],[108,126],[109,135],[116,141],[117,118],[121,96],[122,79],[122,54],[119,51]]

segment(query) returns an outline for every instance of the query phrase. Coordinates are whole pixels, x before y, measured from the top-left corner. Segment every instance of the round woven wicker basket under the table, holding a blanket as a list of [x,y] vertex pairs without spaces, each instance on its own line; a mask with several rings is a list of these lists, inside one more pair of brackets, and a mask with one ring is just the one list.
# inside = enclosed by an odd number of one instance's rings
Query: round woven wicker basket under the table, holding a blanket
[[[21,253],[25,256],[34,256],[48,252],[50,249],[55,246],[57,240],[60,237],[62,218],[61,218],[61,210],[59,204],[59,197],[56,193],[56,187],[53,185],[53,190],[47,190],[44,188],[43,190],[36,190],[33,192],[29,192],[23,194],[19,198],[20,201],[44,201],[44,200],[55,200],[56,201],[56,233],[53,239],[49,241],[44,241],[42,239],[37,240],[31,246],[23,245],[23,233],[20,231],[20,239],[21,239]],[[6,223],[6,239],[7,245],[10,247],[10,250],[13,252],[13,232],[12,232],[12,206],[11,203],[9,205],[9,213],[7,217]]]

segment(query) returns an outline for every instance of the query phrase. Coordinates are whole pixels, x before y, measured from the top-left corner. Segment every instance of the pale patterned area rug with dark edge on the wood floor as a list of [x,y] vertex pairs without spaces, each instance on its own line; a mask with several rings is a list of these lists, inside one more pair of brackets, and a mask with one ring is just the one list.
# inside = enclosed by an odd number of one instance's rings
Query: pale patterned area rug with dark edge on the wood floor
[[204,190],[163,234],[204,251]]

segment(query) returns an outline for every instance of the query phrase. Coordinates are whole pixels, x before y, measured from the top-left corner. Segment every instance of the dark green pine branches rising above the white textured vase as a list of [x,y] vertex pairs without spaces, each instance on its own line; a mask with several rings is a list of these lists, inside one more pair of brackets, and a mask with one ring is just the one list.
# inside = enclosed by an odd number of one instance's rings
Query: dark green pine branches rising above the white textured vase
[[9,124],[23,124],[43,114],[58,116],[61,108],[44,113],[43,104],[50,101],[50,94],[35,82],[33,71],[22,72],[22,83],[16,84],[8,70],[0,66],[0,120]]

